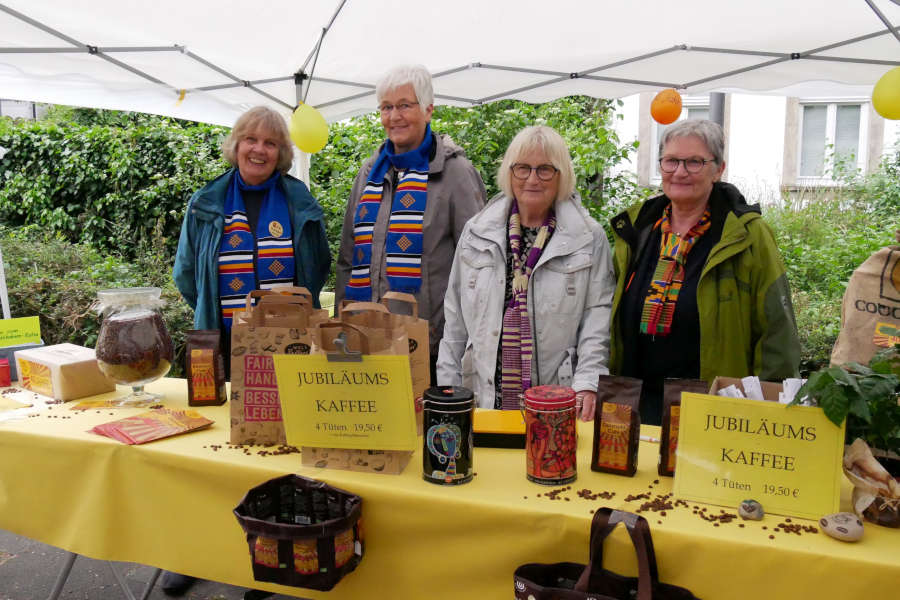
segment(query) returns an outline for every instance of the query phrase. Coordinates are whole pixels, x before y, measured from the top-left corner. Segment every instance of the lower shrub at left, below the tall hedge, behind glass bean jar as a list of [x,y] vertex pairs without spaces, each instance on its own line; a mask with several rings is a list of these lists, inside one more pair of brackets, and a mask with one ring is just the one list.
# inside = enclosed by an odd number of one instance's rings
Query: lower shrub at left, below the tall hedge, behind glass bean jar
[[[156,244],[162,240],[156,238]],[[193,311],[181,299],[169,273],[171,266],[152,245],[135,248],[135,262],[104,255],[88,244],[73,244],[40,227],[0,226],[9,303],[13,317],[38,315],[47,345],[70,342],[93,348],[99,319],[92,309],[97,291],[108,288],[156,286],[166,301],[163,318],[176,355],[170,375],[180,377],[184,337],[193,328]]]

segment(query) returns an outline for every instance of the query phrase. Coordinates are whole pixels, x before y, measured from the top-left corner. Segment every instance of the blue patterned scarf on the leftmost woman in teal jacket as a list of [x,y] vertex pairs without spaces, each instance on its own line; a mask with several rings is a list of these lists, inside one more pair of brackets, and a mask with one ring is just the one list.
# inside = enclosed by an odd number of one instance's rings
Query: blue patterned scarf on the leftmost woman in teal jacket
[[[287,200],[276,171],[260,185],[247,185],[235,170],[225,194],[225,232],[219,246],[219,305],[227,330],[249,292],[294,283],[294,244]],[[255,235],[250,232],[243,191],[265,190]],[[256,256],[256,269],[253,257]]]

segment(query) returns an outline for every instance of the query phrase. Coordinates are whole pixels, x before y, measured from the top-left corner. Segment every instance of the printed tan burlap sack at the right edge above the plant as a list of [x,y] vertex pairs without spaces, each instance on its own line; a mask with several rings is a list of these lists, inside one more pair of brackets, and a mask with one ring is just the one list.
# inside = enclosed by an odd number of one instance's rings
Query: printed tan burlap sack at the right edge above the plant
[[831,364],[866,364],[894,344],[900,344],[900,246],[887,246],[850,277]]

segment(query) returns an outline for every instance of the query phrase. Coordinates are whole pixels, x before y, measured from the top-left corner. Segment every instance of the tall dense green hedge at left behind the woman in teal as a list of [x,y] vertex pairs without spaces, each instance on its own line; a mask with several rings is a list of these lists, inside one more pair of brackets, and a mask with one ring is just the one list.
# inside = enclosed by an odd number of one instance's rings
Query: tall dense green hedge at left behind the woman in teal
[[9,150],[0,161],[0,221],[128,258],[154,231],[173,256],[187,197],[225,169],[222,127],[149,115],[133,126],[0,121]]

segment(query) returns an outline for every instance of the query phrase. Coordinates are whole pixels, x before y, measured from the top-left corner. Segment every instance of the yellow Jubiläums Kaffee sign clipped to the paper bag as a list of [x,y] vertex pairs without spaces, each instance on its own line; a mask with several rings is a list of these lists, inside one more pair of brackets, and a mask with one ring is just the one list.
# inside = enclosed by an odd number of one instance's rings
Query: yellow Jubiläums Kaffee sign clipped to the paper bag
[[295,446],[413,450],[417,445],[406,356],[275,355],[287,440]]

